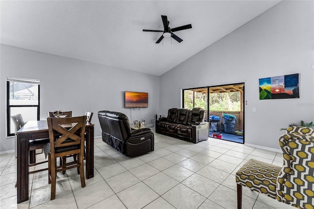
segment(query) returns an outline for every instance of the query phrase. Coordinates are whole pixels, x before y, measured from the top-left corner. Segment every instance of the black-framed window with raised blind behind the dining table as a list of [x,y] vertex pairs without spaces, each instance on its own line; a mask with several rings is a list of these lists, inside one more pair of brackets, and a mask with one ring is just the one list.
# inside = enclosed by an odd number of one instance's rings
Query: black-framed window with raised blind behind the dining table
[[39,120],[39,80],[6,78],[7,136],[15,132],[11,115],[21,114],[24,121]]

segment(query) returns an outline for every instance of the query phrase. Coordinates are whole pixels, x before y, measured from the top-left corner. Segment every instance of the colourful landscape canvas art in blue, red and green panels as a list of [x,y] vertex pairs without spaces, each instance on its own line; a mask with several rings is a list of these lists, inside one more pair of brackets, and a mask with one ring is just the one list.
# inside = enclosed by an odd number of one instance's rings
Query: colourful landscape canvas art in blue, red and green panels
[[260,100],[299,98],[299,74],[260,78]]

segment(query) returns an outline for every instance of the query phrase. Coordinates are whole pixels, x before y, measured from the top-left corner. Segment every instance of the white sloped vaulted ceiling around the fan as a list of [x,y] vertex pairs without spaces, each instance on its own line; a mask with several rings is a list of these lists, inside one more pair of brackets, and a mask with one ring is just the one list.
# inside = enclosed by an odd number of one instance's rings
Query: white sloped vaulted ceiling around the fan
[[[0,1],[1,44],[162,75],[280,0]],[[162,33],[167,15],[178,43]]]

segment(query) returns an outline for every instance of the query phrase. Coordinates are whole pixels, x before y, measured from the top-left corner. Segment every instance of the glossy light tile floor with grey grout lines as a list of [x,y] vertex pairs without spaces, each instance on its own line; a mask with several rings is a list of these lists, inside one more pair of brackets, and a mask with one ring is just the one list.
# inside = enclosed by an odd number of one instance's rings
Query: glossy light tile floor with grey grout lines
[[[0,208],[235,209],[235,172],[250,158],[282,165],[280,153],[215,138],[193,144],[155,133],[155,151],[132,158],[96,138],[94,178],[86,187],[76,169],[58,173],[51,201],[47,171],[35,173],[29,200],[16,204],[16,159],[1,155]],[[243,209],[292,209],[245,187],[242,199]]]

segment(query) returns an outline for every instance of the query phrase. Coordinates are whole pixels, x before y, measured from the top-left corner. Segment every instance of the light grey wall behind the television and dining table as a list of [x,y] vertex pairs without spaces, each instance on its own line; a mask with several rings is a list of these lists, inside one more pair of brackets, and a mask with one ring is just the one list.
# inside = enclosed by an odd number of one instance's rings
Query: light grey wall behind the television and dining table
[[[14,150],[6,137],[6,77],[40,80],[40,119],[48,111],[73,111],[73,116],[94,112],[95,136],[100,136],[97,112],[125,113],[129,120],[151,123],[159,110],[159,77],[41,52],[1,45],[0,153]],[[124,92],[148,92],[148,108],[124,108]],[[131,118],[132,116],[132,118]]]

